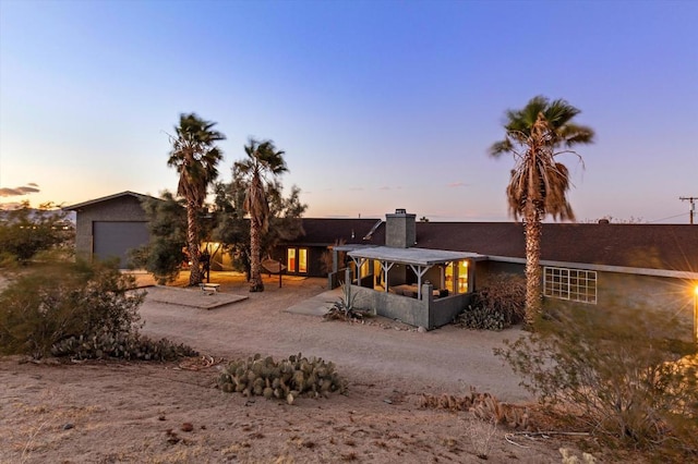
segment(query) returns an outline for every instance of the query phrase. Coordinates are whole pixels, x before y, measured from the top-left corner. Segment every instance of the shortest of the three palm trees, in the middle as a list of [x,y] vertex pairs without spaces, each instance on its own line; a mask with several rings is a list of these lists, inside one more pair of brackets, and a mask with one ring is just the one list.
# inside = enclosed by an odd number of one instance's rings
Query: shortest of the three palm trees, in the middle
[[244,147],[248,159],[237,161],[233,169],[248,178],[248,191],[243,208],[250,215],[250,292],[263,292],[261,269],[261,234],[269,227],[269,202],[267,191],[274,186],[276,176],[288,172],[284,151],[277,150],[274,142],[250,138]]

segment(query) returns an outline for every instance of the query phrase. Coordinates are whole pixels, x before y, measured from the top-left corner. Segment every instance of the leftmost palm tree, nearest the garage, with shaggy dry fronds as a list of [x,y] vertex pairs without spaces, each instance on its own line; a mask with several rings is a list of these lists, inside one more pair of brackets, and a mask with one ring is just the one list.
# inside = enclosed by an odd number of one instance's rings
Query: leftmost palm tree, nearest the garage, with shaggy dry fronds
[[215,144],[226,139],[224,134],[213,129],[214,125],[215,122],[205,121],[195,113],[180,114],[179,125],[174,127],[177,136],[170,135],[172,149],[167,166],[177,169],[177,194],[186,202],[186,247],[192,262],[190,285],[197,285],[202,281],[198,215],[208,185],[218,176],[216,164],[222,158],[222,151]]

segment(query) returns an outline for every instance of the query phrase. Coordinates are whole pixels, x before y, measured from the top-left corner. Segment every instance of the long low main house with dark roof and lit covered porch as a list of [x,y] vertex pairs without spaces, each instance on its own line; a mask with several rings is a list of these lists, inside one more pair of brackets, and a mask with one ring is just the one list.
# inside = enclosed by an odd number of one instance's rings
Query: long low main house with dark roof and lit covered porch
[[[405,222],[389,227],[397,218]],[[385,222],[373,224],[368,237],[362,233],[369,224],[362,223],[363,229],[352,230],[359,233],[352,233],[350,240],[342,223],[351,220],[303,219],[305,235],[281,244],[276,253],[280,258],[288,258],[290,249],[305,254],[309,264],[293,272],[324,276],[315,272],[321,266],[311,260],[324,247],[325,258],[328,253],[333,256],[329,286],[351,281],[358,295],[362,295],[357,297],[378,314],[426,328],[447,323],[449,312],[445,316],[429,316],[430,310],[412,307],[417,303],[408,304],[390,295],[407,290],[409,296],[416,294],[416,300],[424,301],[433,298],[435,289],[440,297],[431,304],[444,305],[448,297],[470,294],[493,273],[524,273],[522,224],[416,222],[414,218],[416,215],[397,210],[387,215]],[[437,253],[430,256],[428,251]],[[449,255],[454,252],[461,255]],[[582,305],[622,303],[690,318],[694,289],[698,285],[698,227],[544,223],[541,266],[543,291],[549,298]],[[345,269],[350,269],[350,273],[346,274]],[[431,291],[423,288],[426,281]],[[455,282],[458,286],[454,286]],[[448,296],[441,296],[442,291],[448,291]],[[460,297],[459,304],[467,304],[467,298]]]

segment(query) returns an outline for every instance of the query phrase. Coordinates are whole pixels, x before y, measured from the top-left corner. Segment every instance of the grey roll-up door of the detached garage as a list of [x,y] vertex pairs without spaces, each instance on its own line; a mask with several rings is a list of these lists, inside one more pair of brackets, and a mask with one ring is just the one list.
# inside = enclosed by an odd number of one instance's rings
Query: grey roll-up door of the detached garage
[[148,243],[146,222],[95,221],[92,236],[94,256],[99,259],[117,257],[121,268],[129,262],[129,249]]

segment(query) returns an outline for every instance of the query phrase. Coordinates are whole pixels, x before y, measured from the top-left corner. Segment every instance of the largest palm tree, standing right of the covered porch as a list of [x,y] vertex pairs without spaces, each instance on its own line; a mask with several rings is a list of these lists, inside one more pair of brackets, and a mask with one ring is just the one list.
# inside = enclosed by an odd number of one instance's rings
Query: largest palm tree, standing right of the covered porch
[[567,200],[569,171],[556,157],[574,154],[571,147],[593,143],[593,130],[573,123],[579,110],[567,101],[533,97],[524,109],[506,112],[506,136],[490,148],[490,155],[514,155],[515,167],[506,190],[509,212],[522,218],[526,233],[526,323],[541,312],[541,221],[546,215],[574,220]]

